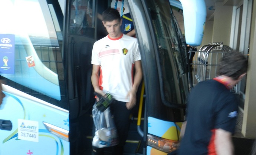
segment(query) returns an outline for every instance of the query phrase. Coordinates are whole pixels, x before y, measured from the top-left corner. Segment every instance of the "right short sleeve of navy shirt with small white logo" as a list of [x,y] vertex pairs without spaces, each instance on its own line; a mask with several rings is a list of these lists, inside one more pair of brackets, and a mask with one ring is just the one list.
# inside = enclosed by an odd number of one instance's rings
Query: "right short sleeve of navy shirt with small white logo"
[[216,122],[214,128],[221,128],[234,133],[236,127],[238,103],[234,95],[221,104],[217,104]]

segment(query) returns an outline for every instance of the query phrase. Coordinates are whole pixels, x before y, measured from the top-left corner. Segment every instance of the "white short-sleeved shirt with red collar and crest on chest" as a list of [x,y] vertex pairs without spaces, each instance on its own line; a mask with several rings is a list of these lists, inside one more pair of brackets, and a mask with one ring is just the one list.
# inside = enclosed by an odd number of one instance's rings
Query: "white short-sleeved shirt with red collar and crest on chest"
[[100,65],[99,86],[118,101],[128,102],[132,88],[134,62],[141,60],[137,38],[122,34],[96,41],[92,49],[92,64]]

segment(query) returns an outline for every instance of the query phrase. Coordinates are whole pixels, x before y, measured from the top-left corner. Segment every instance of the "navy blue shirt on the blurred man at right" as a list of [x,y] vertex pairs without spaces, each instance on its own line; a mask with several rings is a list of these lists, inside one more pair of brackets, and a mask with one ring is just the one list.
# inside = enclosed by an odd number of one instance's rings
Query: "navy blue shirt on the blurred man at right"
[[190,93],[180,155],[206,155],[215,129],[235,130],[238,100],[223,83],[206,80]]

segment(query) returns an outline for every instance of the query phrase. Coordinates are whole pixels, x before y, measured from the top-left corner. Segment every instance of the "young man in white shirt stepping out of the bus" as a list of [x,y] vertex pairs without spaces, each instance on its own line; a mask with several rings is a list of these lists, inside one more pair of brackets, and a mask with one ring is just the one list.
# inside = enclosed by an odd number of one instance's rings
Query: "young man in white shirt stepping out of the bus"
[[[91,79],[95,92],[102,96],[109,93],[116,100],[110,105],[119,137],[113,154],[121,155],[129,130],[129,116],[136,104],[142,79],[141,56],[137,38],[121,32],[119,12],[108,8],[102,17],[108,35],[93,45]],[[101,151],[93,148],[95,154],[102,154]]]

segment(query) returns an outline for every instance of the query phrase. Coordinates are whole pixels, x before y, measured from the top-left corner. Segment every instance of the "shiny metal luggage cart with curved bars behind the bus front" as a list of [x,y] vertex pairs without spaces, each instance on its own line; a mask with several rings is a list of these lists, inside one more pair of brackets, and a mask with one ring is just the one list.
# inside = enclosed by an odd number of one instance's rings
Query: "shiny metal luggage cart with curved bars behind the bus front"
[[[219,65],[220,58],[227,52],[231,52],[232,48],[223,45],[223,42],[214,42],[204,45],[199,49],[199,51],[189,51],[196,52],[194,55],[194,60],[192,65],[192,75],[193,86],[198,82],[212,79],[217,76],[217,67]],[[195,62],[195,63],[194,63]]]

